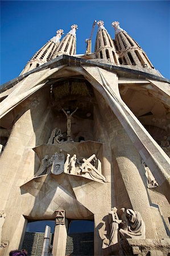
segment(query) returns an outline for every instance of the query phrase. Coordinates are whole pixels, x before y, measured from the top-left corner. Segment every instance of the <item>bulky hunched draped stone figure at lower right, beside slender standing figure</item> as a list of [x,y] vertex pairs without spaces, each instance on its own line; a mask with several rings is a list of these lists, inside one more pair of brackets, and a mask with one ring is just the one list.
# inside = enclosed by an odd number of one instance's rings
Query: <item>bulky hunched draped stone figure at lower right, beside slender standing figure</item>
[[145,239],[145,225],[139,212],[122,208],[122,228],[119,230],[122,238]]

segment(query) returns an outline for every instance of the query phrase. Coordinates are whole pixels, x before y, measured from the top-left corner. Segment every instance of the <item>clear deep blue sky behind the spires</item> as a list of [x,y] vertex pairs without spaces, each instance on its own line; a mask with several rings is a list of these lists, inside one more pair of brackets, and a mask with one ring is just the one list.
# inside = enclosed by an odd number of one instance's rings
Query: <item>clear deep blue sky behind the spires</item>
[[[111,22],[139,43],[154,67],[170,78],[169,1],[1,1],[1,83],[19,76],[27,61],[56,30],[78,24],[77,54],[85,53],[93,20],[103,20],[112,38]],[[97,26],[93,34],[94,42]]]

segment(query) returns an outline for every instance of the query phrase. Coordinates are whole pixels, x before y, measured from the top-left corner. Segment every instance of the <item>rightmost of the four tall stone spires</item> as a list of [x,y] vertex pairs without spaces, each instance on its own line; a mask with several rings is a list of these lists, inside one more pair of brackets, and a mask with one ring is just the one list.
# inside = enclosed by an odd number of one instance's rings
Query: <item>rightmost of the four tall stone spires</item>
[[115,21],[111,24],[115,30],[115,42],[120,64],[154,68],[143,49],[119,26],[119,22]]

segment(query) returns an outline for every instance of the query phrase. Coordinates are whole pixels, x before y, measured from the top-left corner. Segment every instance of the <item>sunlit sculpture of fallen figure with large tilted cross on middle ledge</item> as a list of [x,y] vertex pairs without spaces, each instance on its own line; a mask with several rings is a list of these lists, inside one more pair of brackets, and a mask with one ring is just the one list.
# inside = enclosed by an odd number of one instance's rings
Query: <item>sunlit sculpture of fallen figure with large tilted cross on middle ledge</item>
[[[96,155],[93,154],[88,159],[82,159],[84,163],[81,164],[80,170],[78,174],[87,177],[88,179],[96,180],[96,181],[104,181],[106,182],[106,178],[101,174],[101,162],[96,158]],[[98,160],[98,169],[91,163],[93,160],[93,164],[96,164]]]

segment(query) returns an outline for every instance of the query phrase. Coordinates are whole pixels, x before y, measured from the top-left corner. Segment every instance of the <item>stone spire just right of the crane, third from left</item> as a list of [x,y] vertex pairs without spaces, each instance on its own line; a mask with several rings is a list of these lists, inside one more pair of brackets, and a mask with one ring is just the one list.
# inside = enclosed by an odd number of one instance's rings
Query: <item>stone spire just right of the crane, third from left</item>
[[118,55],[116,53],[117,49],[109,33],[104,27],[104,22],[99,20],[97,24],[98,32],[94,49],[96,59],[105,59],[115,64],[119,64]]

